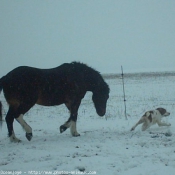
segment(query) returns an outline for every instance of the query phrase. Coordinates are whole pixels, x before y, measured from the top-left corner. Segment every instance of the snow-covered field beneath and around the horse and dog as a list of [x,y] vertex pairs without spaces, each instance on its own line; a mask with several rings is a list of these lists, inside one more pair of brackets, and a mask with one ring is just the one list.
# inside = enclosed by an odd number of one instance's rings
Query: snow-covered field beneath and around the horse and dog
[[[132,74],[125,77],[127,118],[124,115],[122,79],[108,77],[111,92],[107,113],[99,117],[88,92],[79,108],[77,130],[72,137],[59,127],[69,116],[64,105],[35,105],[25,120],[33,129],[29,142],[15,121],[14,129],[21,143],[10,143],[6,124],[0,130],[1,174],[97,174],[97,175],[173,175],[175,173],[175,73]],[[4,101],[4,113],[8,106]],[[131,127],[145,111],[166,108],[164,119],[170,127],[141,131]],[[169,136],[166,133],[171,133]]]

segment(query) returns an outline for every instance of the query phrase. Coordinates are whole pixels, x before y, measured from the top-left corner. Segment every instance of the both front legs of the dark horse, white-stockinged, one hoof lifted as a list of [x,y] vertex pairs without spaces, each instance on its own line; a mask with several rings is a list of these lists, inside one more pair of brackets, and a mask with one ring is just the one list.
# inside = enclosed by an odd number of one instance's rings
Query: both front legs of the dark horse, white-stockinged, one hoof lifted
[[78,108],[79,108],[80,102],[81,100],[76,104],[72,104],[71,106],[66,105],[70,111],[70,117],[64,125],[60,126],[61,133],[64,132],[67,128],[70,128],[70,132],[72,136],[74,137],[80,136],[80,134],[77,132],[77,129],[76,129]]

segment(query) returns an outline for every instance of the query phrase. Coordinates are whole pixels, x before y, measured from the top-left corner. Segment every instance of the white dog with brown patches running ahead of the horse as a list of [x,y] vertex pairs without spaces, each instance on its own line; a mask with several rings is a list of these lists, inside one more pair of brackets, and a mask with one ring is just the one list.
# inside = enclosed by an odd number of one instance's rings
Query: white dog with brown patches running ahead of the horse
[[170,113],[166,111],[164,108],[157,108],[152,111],[147,111],[141,119],[131,128],[133,131],[139,124],[143,123],[142,131],[145,131],[149,127],[154,124],[158,124],[159,126],[171,126],[171,124],[161,122],[163,117],[169,116]]

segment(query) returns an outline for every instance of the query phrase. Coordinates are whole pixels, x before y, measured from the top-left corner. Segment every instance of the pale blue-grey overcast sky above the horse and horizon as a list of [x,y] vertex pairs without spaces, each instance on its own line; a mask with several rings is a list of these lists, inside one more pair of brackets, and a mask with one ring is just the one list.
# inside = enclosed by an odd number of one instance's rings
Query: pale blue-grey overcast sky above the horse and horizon
[[0,76],[72,61],[101,73],[175,71],[175,1],[0,0]]

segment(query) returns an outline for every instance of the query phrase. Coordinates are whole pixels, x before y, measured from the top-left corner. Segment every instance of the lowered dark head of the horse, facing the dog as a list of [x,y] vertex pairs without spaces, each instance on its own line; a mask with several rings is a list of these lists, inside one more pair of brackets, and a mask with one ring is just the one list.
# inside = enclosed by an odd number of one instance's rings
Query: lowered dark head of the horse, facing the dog
[[99,116],[104,116],[106,113],[106,104],[109,98],[109,89],[108,91],[98,91],[94,92],[92,95],[92,100],[94,102],[94,106],[96,112]]

